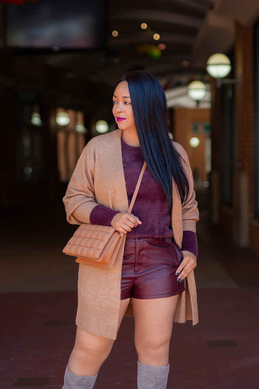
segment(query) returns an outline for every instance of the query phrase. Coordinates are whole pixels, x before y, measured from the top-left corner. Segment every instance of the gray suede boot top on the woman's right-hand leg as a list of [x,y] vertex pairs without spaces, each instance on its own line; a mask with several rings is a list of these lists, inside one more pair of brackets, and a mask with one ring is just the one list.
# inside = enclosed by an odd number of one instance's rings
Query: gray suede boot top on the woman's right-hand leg
[[168,366],[150,366],[138,362],[138,389],[166,389]]

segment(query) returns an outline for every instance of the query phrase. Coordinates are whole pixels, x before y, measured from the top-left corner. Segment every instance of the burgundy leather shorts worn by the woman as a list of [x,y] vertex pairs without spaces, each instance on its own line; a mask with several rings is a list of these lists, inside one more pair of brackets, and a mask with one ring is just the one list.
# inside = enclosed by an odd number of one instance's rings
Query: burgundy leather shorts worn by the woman
[[121,300],[162,298],[179,294],[185,283],[177,281],[176,268],[183,254],[173,242],[160,238],[126,238],[121,273]]

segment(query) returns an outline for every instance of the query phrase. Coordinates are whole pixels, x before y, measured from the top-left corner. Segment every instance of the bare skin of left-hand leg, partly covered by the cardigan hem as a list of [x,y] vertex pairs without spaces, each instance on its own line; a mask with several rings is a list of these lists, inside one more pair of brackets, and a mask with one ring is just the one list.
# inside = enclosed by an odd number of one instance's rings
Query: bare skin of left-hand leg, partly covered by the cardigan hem
[[[118,329],[128,307],[129,300],[129,298],[121,300]],[[96,375],[100,366],[110,354],[113,343],[113,339],[93,335],[77,328],[76,342],[68,361],[69,371],[85,377]]]

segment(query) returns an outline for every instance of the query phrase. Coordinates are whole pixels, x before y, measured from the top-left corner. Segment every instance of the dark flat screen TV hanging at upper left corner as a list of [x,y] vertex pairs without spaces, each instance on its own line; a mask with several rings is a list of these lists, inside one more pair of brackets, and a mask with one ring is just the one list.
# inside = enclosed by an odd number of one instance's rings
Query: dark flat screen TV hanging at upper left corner
[[5,44],[18,51],[105,48],[105,0],[36,0],[6,5]]

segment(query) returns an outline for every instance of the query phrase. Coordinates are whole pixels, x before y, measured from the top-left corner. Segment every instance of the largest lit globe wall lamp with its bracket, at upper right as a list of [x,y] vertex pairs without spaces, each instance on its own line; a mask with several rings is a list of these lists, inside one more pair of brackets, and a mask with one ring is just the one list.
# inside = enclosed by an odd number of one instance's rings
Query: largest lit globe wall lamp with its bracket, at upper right
[[209,75],[216,78],[216,85],[218,88],[220,88],[222,84],[238,84],[241,86],[241,75],[238,79],[224,79],[232,70],[230,59],[225,54],[217,53],[211,55],[207,60],[206,68]]

